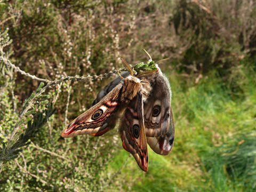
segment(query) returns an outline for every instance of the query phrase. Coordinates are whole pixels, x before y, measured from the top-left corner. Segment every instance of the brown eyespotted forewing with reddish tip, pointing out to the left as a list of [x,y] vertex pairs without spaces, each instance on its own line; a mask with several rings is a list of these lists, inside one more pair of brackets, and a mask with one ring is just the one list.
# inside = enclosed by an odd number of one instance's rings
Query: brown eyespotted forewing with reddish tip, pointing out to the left
[[121,81],[105,95],[96,105],[75,118],[61,133],[62,137],[74,137],[79,134],[101,135],[108,131],[119,107],[119,93],[122,90]]

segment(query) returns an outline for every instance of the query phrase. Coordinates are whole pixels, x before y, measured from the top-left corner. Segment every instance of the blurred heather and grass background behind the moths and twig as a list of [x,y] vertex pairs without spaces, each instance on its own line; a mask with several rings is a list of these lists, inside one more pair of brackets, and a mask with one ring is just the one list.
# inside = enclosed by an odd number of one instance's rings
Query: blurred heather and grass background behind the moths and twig
[[111,78],[63,82],[31,106],[45,116],[54,102],[55,112],[17,158],[2,162],[1,191],[256,190],[256,1],[0,1],[0,18],[1,33],[8,28],[12,39],[3,46],[0,38],[2,143],[10,144],[17,121],[13,142],[30,127],[19,111],[40,83],[4,57],[50,81],[108,73],[122,67],[121,57],[146,61],[142,49],[155,61],[170,58],[160,67],[170,80],[175,121],[171,153],[149,149],[142,172],[117,129],[60,138]]

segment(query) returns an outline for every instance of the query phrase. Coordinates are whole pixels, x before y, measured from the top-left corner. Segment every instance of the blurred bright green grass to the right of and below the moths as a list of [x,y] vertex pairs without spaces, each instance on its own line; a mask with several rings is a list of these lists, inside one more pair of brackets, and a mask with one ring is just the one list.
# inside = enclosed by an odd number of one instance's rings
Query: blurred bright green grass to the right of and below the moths
[[118,170],[128,158],[119,176],[125,180],[124,190],[255,190],[255,71],[250,65],[239,70],[242,83],[236,84],[240,86],[236,93],[230,91],[228,82],[233,79],[223,80],[217,73],[203,77],[198,84],[167,74],[173,91],[174,148],[168,156],[149,149],[147,173],[121,150],[110,169]]

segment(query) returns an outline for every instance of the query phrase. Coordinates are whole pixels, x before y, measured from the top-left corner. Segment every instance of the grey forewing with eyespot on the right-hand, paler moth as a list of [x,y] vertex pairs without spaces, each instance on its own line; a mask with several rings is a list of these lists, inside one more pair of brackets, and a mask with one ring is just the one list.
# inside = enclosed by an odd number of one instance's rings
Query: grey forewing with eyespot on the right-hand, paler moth
[[148,99],[144,101],[144,121],[147,137],[165,134],[170,125],[171,88],[162,72],[156,77]]

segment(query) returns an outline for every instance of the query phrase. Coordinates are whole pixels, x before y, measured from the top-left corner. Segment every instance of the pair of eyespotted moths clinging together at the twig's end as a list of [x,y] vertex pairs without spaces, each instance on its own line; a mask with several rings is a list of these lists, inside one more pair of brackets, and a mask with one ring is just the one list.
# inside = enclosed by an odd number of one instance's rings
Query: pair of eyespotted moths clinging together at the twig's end
[[119,124],[123,148],[145,172],[148,170],[147,143],[155,153],[169,154],[174,145],[171,87],[157,63],[150,55],[149,58],[148,62],[134,67],[122,59],[127,71],[105,86],[91,108],[75,118],[61,136],[98,137]]

